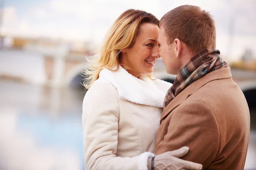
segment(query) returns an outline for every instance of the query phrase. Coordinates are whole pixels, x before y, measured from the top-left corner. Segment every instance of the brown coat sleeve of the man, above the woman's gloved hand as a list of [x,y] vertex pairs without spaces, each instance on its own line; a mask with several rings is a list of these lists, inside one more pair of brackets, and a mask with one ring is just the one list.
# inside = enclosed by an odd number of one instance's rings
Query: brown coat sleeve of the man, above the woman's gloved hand
[[[217,155],[220,141],[214,114],[200,101],[180,105],[173,112],[168,131],[157,144],[155,154],[188,146],[189,153],[182,159],[203,164],[203,169],[207,168]],[[160,133],[157,135],[161,136]]]

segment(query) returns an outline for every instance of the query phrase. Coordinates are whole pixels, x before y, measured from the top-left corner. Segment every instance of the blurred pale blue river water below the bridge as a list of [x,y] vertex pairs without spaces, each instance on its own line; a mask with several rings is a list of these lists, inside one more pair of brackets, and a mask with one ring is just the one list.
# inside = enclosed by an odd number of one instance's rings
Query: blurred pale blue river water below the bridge
[[[0,80],[0,170],[83,170],[84,90]],[[256,169],[256,110],[246,169]]]

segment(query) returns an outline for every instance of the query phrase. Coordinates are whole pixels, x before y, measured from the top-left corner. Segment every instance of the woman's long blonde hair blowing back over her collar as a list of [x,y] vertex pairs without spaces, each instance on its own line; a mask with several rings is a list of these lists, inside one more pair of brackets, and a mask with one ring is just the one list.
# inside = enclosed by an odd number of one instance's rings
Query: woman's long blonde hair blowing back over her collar
[[[133,45],[142,23],[158,25],[159,20],[150,13],[135,9],[128,9],[116,19],[108,30],[99,52],[92,57],[87,57],[88,65],[82,73],[85,88],[89,89],[93,85],[103,68],[111,70],[116,66],[116,69],[111,71],[119,70],[120,52]],[[124,65],[122,67],[129,69]],[[151,75],[148,74],[148,77],[151,78]]]

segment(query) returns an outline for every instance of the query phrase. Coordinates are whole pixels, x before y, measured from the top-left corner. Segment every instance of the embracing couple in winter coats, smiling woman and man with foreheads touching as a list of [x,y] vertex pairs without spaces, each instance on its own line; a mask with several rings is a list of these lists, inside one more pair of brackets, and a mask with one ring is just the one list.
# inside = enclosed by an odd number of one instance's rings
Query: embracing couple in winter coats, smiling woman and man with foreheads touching
[[[243,170],[249,109],[215,46],[200,7],[122,13],[84,71],[86,169]],[[173,84],[151,76],[160,57]]]

